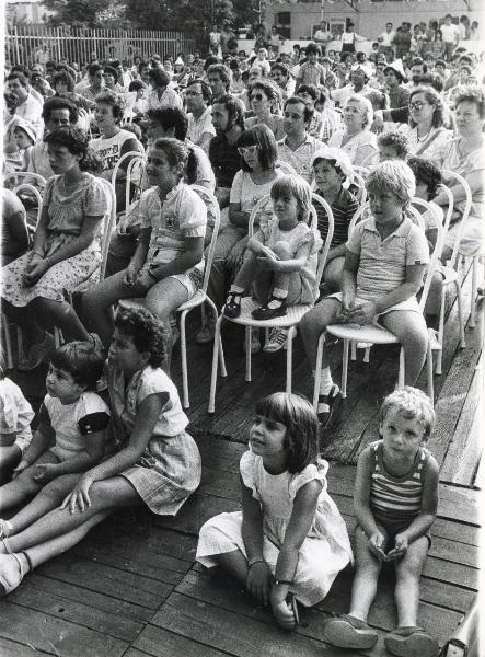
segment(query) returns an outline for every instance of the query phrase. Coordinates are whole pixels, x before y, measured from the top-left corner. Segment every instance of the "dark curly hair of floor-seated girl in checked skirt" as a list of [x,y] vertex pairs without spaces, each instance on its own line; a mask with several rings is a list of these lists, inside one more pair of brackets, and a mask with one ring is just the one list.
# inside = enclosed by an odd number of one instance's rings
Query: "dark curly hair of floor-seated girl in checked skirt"
[[166,331],[147,308],[122,308],[115,315],[115,328],[132,338],[138,351],[149,353],[148,364],[161,367],[166,359]]

